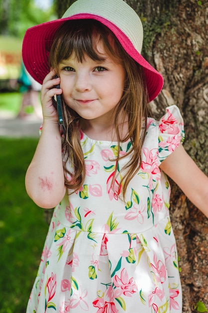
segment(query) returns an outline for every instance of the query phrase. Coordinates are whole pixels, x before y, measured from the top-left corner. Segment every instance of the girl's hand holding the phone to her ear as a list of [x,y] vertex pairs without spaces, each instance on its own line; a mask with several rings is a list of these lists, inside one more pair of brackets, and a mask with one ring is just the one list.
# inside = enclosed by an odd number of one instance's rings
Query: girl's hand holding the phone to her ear
[[57,110],[53,106],[52,97],[55,94],[61,94],[62,89],[56,88],[56,85],[60,83],[60,78],[54,78],[55,72],[51,70],[44,78],[40,100],[42,105],[42,114],[43,120],[51,120],[51,121],[58,121]]

